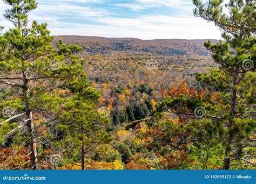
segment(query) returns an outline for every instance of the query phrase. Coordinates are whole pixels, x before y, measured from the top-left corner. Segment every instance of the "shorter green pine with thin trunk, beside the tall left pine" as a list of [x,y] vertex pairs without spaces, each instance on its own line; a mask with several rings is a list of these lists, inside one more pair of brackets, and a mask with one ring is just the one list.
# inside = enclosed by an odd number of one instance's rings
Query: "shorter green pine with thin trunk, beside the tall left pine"
[[68,87],[73,96],[64,99],[62,114],[59,117],[62,122],[59,126],[65,131],[63,147],[71,147],[65,151],[80,148],[81,168],[85,169],[85,154],[111,140],[110,135],[104,130],[109,125],[109,118],[95,110],[95,102],[100,94],[89,87],[85,75],[72,81]]

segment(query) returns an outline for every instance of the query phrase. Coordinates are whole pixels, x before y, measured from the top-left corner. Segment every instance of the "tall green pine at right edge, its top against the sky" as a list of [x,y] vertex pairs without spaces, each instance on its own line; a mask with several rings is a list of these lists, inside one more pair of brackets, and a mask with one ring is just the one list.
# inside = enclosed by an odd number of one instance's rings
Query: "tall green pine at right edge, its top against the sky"
[[228,112],[219,113],[214,121],[221,123],[221,141],[225,145],[223,168],[229,169],[231,161],[242,160],[241,155],[234,154],[235,150],[251,146],[251,141],[255,141],[251,136],[256,123],[253,96],[256,38],[252,36],[256,30],[256,4],[253,0],[230,0],[225,4],[230,15],[226,15],[221,6],[223,0],[207,3],[194,0],[193,3],[197,6],[195,16],[214,22],[223,31],[223,41],[205,43],[220,67],[211,70],[211,73],[199,73],[197,79],[207,89],[218,91],[226,105]]

